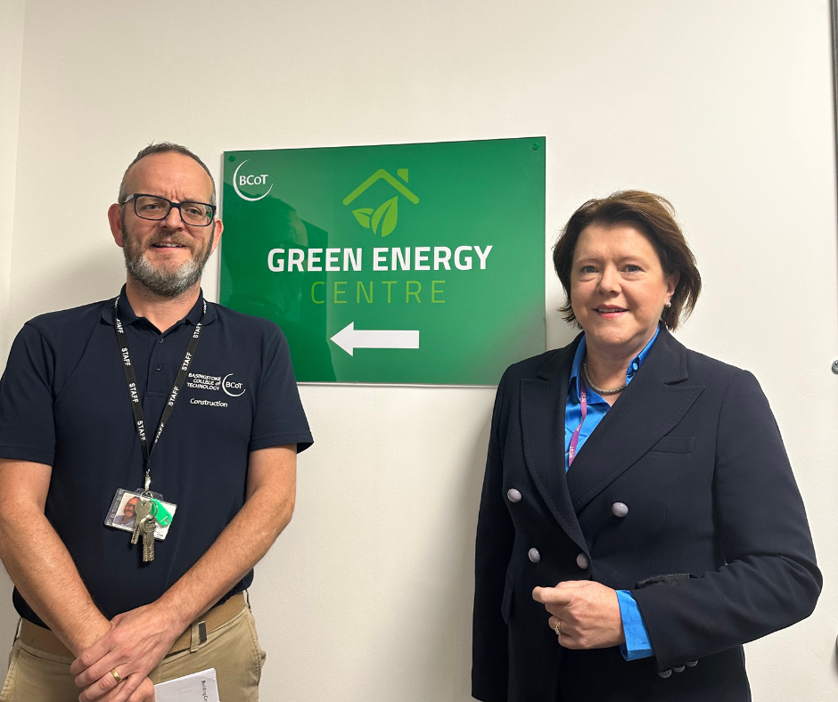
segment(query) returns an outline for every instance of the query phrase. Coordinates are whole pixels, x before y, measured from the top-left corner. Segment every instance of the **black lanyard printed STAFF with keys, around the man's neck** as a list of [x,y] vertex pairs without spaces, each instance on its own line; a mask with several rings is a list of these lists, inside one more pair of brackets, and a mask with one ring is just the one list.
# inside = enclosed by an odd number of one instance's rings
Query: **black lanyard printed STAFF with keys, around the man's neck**
[[[163,428],[166,426],[166,422],[171,416],[172,410],[175,409],[177,396],[180,395],[180,389],[183,388],[186,375],[189,372],[189,366],[192,364],[192,359],[195,356],[195,349],[198,347],[198,341],[201,339],[201,328],[203,327],[203,318],[205,314],[207,314],[206,300],[203,301],[201,319],[197,324],[195,324],[192,339],[189,339],[189,345],[186,347],[186,355],[184,356],[183,363],[180,364],[180,369],[177,371],[177,378],[175,378],[175,384],[172,386],[172,391],[168,395],[168,402],[163,408],[163,414],[160,417],[160,425],[154,433],[154,440],[151,444],[149,444],[145,427],[143,403],[140,401],[139,388],[137,388],[136,384],[136,373],[134,372],[134,365],[131,363],[131,355],[128,352],[128,339],[125,335],[125,330],[122,327],[122,322],[119,320],[119,295],[113,301],[113,328],[117,334],[119,353],[122,356],[122,368],[125,371],[125,380],[128,385],[128,396],[131,400],[131,410],[134,412],[134,427],[136,429],[136,436],[140,440],[140,446],[143,449],[143,458],[145,461],[144,491],[141,494],[140,502],[137,502],[135,507],[136,525],[131,538],[131,543],[137,543],[140,535],[143,536],[144,561],[151,561],[154,559],[154,531],[157,527],[158,521],[171,522],[170,516],[168,519],[158,518],[157,515],[160,513],[160,502],[152,500],[152,493],[150,492],[150,487],[152,485],[152,451],[154,450],[154,446],[157,445],[157,442],[160,441],[160,435],[163,433]],[[163,514],[160,513],[160,517],[163,517]],[[162,526],[168,526],[168,524]]]

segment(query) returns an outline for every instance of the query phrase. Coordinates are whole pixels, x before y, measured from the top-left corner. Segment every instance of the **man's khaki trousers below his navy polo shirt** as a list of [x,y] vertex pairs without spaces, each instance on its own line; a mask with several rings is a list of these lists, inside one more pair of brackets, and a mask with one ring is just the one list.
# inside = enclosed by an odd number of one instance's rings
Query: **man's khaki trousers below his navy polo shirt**
[[[265,655],[251,610],[245,607],[209,632],[207,641],[200,643],[196,638],[189,649],[163,658],[149,677],[157,684],[215,668],[221,702],[258,702]],[[53,656],[15,641],[0,702],[76,702],[81,690],[70,674],[72,662],[72,658]]]

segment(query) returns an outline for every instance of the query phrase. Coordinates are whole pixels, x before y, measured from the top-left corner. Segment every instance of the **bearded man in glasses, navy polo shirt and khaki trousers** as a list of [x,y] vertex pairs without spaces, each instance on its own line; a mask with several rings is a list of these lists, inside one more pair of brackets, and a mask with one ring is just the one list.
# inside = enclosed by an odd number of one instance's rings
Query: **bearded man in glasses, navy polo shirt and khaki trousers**
[[[258,698],[242,591],[292,517],[312,439],[282,332],[203,299],[214,215],[201,159],[140,151],[108,211],[127,267],[117,304],[41,315],[12,346],[0,559],[23,621],[3,700],[144,702],[209,667],[221,699]],[[106,524],[126,492],[136,545]]]

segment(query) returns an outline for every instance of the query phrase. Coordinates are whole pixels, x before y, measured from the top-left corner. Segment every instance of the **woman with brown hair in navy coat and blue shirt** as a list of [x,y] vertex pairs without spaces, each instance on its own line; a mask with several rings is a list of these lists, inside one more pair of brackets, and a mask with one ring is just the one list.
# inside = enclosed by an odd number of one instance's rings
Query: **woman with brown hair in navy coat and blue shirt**
[[822,582],[768,402],[670,336],[701,277],[667,200],[588,201],[554,264],[582,333],[497,388],[472,695],[749,700],[742,644],[809,616]]

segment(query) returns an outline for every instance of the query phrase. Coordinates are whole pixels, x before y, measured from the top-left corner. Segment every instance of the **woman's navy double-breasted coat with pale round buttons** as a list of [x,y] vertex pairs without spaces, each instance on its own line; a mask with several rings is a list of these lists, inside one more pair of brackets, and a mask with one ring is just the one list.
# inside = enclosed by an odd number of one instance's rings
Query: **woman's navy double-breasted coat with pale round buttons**
[[[578,344],[514,364],[497,388],[477,527],[472,695],[749,700],[742,644],[809,616],[822,584],[768,401],[751,373],[661,330],[565,474]],[[615,502],[628,514],[616,516]],[[657,575],[682,577],[637,588]],[[559,646],[531,593],[574,579],[631,591],[654,656],[627,662],[616,647]]]

